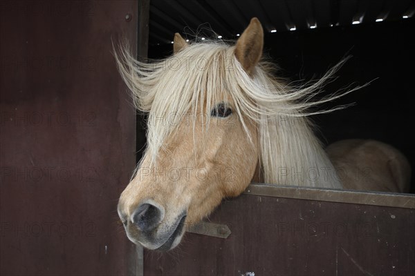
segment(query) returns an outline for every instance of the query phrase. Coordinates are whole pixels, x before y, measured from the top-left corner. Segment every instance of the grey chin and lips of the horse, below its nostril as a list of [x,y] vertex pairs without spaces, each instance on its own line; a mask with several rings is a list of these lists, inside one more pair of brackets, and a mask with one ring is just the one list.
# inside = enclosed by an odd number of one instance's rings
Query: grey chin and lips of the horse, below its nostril
[[[163,225],[160,226],[161,228],[154,233],[155,236],[146,237],[145,239],[137,239],[136,237],[132,237],[129,235],[127,231],[127,237],[133,242],[134,244],[144,246],[150,250],[157,250],[157,251],[168,251],[175,248],[178,244],[180,244],[181,239],[185,233],[185,220],[186,215],[183,214],[176,221],[174,224],[167,226],[163,229]],[[167,231],[168,230],[168,231]],[[158,232],[158,235],[157,235]]]

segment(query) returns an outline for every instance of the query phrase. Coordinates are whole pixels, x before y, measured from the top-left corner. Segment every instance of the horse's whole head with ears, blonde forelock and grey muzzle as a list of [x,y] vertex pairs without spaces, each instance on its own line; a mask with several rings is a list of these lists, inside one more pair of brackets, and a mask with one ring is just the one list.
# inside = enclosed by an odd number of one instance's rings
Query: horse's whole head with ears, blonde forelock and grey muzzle
[[139,90],[137,104],[149,112],[145,155],[118,204],[132,242],[170,250],[187,225],[250,184],[259,160],[257,124],[232,90],[241,86],[237,79],[250,81],[263,43],[256,18],[235,46],[189,45],[175,34],[172,57],[134,77],[124,74],[127,84],[140,83],[133,88]]

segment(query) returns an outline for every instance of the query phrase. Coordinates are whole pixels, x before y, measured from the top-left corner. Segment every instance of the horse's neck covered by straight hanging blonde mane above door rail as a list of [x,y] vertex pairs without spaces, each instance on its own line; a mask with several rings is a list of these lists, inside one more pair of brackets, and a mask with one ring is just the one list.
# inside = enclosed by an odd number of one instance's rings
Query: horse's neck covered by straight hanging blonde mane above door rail
[[279,116],[272,123],[261,124],[259,130],[266,183],[342,188],[333,164],[306,118]]

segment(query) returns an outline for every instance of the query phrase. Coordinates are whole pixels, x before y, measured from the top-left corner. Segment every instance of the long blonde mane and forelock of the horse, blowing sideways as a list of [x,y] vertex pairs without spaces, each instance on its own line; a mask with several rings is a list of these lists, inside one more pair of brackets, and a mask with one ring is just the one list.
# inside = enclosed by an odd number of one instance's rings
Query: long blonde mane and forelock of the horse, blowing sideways
[[[258,160],[266,183],[342,187],[307,116],[344,108],[311,110],[358,89],[315,100],[344,61],[307,86],[288,86],[273,76],[274,66],[267,61],[248,75],[234,55],[234,46],[217,41],[193,43],[176,55],[150,63],[137,61],[123,46],[116,60],[136,108],[149,112],[147,154],[154,164],[163,141],[178,135],[176,123],[183,116],[200,114],[223,99],[232,99],[246,135],[258,139]],[[208,126],[210,117],[202,117]],[[257,123],[258,137],[251,137],[247,119]]]

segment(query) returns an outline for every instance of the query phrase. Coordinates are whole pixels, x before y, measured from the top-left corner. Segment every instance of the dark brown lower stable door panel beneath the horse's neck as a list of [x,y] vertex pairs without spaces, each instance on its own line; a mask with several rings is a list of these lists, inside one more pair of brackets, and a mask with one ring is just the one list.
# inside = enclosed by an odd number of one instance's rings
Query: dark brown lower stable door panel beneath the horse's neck
[[414,209],[241,195],[208,221],[232,233],[145,250],[145,275],[414,275]]

